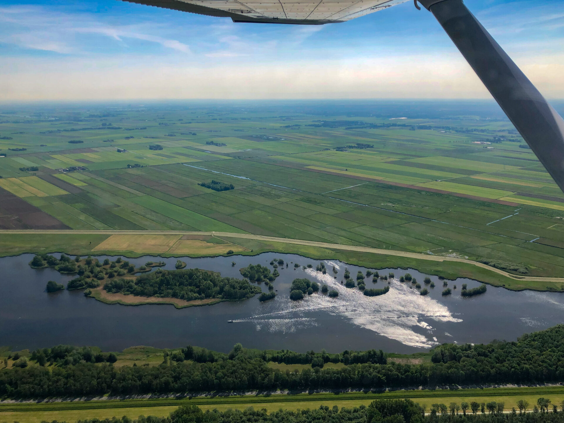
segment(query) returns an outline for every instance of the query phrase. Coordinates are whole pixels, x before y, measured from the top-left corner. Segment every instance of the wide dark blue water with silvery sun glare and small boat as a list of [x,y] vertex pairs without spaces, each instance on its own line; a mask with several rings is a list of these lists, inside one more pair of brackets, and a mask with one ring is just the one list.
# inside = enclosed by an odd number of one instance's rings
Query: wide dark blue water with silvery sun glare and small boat
[[[59,257],[59,254],[55,254]],[[479,283],[469,279],[448,281],[451,296],[442,296],[443,281],[430,276],[435,288],[421,296],[415,285],[400,283],[410,273],[423,285],[426,275],[412,269],[378,270],[393,272],[390,291],[379,297],[367,297],[358,289],[341,285],[345,267],[351,277],[367,268],[327,260],[327,274],[315,271],[319,261],[295,254],[263,253],[248,256],[180,258],[187,268],[197,267],[221,272],[222,276],[241,278],[239,269],[249,264],[263,266],[281,258],[280,276],[274,281],[277,297],[259,302],[258,296],[239,302],[221,302],[211,306],[175,309],[172,305],[107,305],[83,296],[82,290],[45,292],[48,280],[66,284],[76,276],[60,275],[51,268],[34,270],[28,263],[32,254],[0,258],[0,346],[14,350],[36,349],[60,343],[99,346],[105,351],[129,346],[180,347],[197,345],[227,352],[241,342],[257,349],[306,351],[382,349],[410,353],[428,350],[437,343],[481,343],[515,340],[523,333],[539,331],[564,323],[564,294],[513,292],[488,285],[487,292],[472,298],[460,296],[463,283],[468,289]],[[116,257],[98,256],[111,260]],[[144,256],[128,259],[140,266],[145,262],[165,261],[165,269],[174,269],[177,258]],[[236,265],[232,266],[231,262]],[[294,263],[314,268],[294,268]],[[375,263],[376,264],[376,263]],[[338,270],[332,271],[333,266]],[[336,276],[336,279],[334,278]],[[339,292],[337,298],[321,293],[291,301],[289,288],[296,277],[307,277]],[[384,288],[387,281],[367,288]],[[457,285],[457,289],[453,289]],[[268,292],[264,284],[259,284]],[[228,323],[233,320],[233,323]]]

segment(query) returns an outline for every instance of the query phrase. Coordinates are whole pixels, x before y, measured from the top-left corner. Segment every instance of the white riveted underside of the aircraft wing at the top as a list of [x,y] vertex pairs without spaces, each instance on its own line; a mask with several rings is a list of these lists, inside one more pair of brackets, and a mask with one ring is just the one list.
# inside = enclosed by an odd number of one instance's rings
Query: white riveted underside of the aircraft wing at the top
[[368,15],[407,0],[126,0],[236,22],[325,24]]

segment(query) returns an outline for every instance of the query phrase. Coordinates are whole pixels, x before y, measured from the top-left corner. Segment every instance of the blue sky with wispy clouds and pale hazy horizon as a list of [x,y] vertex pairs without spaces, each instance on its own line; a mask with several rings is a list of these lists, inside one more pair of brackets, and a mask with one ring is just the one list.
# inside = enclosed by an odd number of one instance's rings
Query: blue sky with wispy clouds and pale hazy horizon
[[[564,98],[562,0],[466,0],[549,99]],[[274,25],[120,0],[0,0],[0,102],[487,99],[412,1],[345,23]]]

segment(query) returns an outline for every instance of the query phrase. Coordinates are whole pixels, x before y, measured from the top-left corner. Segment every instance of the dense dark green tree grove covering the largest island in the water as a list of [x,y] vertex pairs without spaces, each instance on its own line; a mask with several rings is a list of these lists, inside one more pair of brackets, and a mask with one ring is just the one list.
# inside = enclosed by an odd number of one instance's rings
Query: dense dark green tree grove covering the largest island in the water
[[261,288],[248,280],[222,277],[217,272],[200,269],[158,269],[135,280],[110,280],[104,285],[109,293],[132,294],[143,297],[194,299],[243,299],[253,297]]

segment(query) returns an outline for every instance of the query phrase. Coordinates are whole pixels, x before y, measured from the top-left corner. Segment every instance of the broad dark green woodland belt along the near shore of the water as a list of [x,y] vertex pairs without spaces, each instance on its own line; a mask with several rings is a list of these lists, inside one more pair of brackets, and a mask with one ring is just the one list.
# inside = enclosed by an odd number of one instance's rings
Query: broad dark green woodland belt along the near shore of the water
[[[182,272],[182,271],[181,271]],[[0,372],[0,396],[130,395],[194,391],[349,389],[446,384],[544,384],[564,381],[564,325],[525,334],[515,342],[487,345],[444,344],[435,348],[430,363],[384,361],[380,352],[368,354],[381,363],[348,364],[342,368],[280,371],[268,366],[284,351],[243,349],[226,355],[187,347],[158,367],[80,362],[42,367],[29,365]],[[196,351],[198,351],[196,353]],[[200,354],[201,352],[201,354]],[[360,353],[358,353],[360,354]],[[342,354],[345,360],[347,354]],[[349,360],[355,356],[348,354]],[[193,357],[196,356],[197,359]],[[368,359],[367,356],[367,359]],[[192,357],[192,358],[191,358]],[[324,363],[333,356],[312,357]],[[341,358],[340,358],[341,359]],[[268,360],[268,361],[267,361]],[[284,360],[284,358],[282,358]],[[86,360],[85,360],[86,361]],[[350,362],[349,362],[350,363]]]

